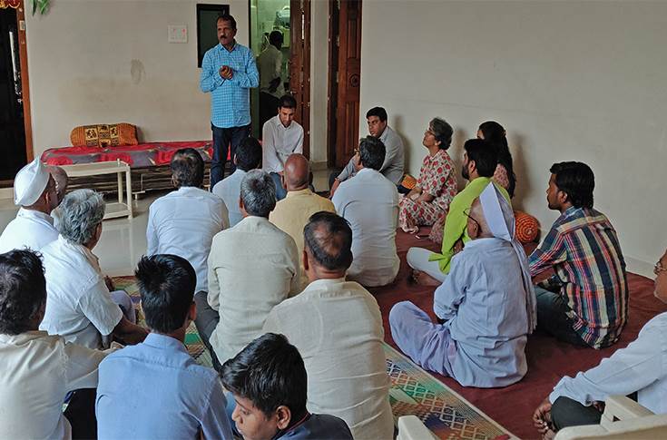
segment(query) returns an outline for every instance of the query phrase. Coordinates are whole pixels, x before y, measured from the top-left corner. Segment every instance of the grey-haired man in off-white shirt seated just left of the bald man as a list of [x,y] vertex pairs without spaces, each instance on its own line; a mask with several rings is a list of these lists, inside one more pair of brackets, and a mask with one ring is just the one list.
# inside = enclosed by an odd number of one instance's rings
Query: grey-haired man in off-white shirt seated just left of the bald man
[[271,308],[299,293],[299,256],[289,235],[269,221],[276,187],[253,170],[240,184],[243,220],[213,237],[209,293],[198,292],[195,325],[211,351],[213,367],[236,356],[252,339]]

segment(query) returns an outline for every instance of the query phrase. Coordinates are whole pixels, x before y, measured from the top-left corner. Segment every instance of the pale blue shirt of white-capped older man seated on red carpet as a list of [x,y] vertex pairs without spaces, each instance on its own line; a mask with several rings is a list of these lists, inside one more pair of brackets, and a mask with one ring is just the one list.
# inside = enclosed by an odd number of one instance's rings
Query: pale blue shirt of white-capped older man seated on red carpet
[[519,260],[509,241],[470,240],[436,288],[433,310],[456,341],[448,359],[463,385],[507,386],[528,367],[528,317]]

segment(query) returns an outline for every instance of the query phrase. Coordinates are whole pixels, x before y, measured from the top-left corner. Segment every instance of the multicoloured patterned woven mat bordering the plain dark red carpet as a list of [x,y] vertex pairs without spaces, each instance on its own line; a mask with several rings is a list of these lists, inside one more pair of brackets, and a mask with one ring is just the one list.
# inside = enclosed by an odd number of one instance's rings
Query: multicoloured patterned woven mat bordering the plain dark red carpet
[[[132,297],[140,324],[145,326],[139,288],[134,277],[116,277],[115,288]],[[185,335],[185,346],[198,364],[212,367],[211,355],[191,323]],[[395,419],[414,415],[436,436],[447,440],[505,440],[516,438],[464,397],[429,375],[410,359],[383,343],[387,375],[391,379],[389,401]]]

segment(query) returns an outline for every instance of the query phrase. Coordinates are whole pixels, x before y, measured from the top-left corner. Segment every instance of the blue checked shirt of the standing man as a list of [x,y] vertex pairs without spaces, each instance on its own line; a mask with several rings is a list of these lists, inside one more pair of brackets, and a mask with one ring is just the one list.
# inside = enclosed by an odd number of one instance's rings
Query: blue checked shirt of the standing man
[[[231,80],[221,77],[219,71],[229,65]],[[244,45],[234,44],[229,52],[217,44],[204,54],[201,61],[199,86],[201,92],[211,92],[211,123],[218,128],[242,127],[250,123],[250,88],[260,83],[255,56]]]

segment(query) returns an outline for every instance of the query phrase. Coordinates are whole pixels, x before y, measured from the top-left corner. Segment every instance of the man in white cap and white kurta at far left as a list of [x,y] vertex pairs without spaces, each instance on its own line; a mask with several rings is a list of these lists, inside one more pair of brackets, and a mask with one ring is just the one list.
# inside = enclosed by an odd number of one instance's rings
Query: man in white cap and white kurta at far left
[[21,208],[0,236],[0,252],[39,250],[58,238],[51,217],[51,211],[58,206],[55,181],[39,158],[16,173],[14,202]]

